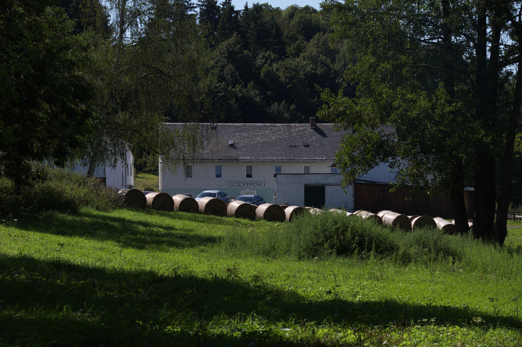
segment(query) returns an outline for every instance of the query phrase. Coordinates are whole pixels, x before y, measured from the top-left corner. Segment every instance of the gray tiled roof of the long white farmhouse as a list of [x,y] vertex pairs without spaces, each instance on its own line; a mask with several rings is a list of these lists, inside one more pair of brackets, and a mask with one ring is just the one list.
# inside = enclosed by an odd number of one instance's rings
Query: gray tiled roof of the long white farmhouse
[[[166,123],[179,129],[184,123]],[[216,129],[203,124],[205,138],[200,161],[334,161],[341,138],[348,131],[336,132],[334,124],[226,124]],[[384,129],[390,132],[390,129]],[[228,141],[233,140],[234,146]],[[308,146],[303,146],[303,141]]]

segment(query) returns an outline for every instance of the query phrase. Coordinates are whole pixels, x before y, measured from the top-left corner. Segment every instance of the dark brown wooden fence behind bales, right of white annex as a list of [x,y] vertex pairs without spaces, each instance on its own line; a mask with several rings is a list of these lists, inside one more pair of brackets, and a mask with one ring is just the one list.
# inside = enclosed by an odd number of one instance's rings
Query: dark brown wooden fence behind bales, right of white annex
[[[392,186],[385,183],[356,182],[353,185],[354,211],[365,210],[377,213],[390,210],[406,215],[426,215],[453,218],[453,204],[448,195],[410,195],[408,188],[397,188],[390,193]],[[468,217],[472,209],[472,194],[467,192]],[[408,199],[409,198],[409,199]]]

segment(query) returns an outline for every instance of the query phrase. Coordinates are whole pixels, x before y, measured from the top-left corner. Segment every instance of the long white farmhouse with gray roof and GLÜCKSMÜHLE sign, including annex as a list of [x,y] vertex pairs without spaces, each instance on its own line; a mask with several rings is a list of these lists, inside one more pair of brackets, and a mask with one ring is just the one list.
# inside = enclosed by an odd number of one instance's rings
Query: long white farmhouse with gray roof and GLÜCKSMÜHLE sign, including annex
[[[184,124],[166,125],[180,130]],[[315,118],[309,124],[204,126],[211,126],[204,133],[211,140],[204,141],[193,164],[174,172],[169,170],[169,158],[160,156],[160,191],[194,197],[205,190],[226,191],[231,197],[256,193],[278,204],[353,208],[353,190],[341,189],[341,175],[330,167],[346,131],[336,132],[333,124],[315,124]],[[384,165],[362,179],[393,180]]]

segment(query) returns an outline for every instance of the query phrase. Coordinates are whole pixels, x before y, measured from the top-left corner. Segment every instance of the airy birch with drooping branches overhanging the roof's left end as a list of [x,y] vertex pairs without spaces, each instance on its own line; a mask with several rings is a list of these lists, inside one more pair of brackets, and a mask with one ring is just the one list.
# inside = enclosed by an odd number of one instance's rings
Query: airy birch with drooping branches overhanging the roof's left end
[[205,48],[184,3],[114,0],[109,5],[115,33],[93,40],[96,60],[89,76],[97,87],[95,111],[85,151],[77,154],[88,175],[101,164],[115,165],[129,145],[158,153],[165,111],[170,107],[191,120],[197,112],[187,105],[198,104],[204,94],[195,81],[203,75]]

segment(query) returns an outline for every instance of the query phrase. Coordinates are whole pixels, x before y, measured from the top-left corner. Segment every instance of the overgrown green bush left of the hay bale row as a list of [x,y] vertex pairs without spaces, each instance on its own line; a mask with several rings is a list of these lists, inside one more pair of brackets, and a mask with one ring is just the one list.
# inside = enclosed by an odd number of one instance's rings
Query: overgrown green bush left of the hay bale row
[[121,204],[117,191],[93,177],[33,164],[31,175],[15,194],[14,183],[0,178],[0,215],[29,215],[43,211],[77,213],[81,207],[108,211]]

